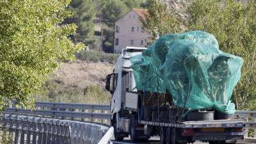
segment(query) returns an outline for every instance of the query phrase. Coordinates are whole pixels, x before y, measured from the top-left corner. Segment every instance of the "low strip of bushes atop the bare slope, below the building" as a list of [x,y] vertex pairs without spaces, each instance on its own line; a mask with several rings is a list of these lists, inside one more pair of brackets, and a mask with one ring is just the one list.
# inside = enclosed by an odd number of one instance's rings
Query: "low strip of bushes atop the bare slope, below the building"
[[99,51],[79,51],[76,54],[77,59],[83,61],[92,61],[94,63],[99,61],[115,63],[118,56],[119,54],[111,54]]

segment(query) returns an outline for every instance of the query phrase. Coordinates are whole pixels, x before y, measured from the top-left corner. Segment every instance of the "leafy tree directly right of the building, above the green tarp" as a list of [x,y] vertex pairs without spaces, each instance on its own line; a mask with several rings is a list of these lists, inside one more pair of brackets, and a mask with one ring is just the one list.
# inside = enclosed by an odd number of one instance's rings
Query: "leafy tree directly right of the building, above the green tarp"
[[156,0],[148,4],[148,15],[145,20],[140,20],[142,28],[152,36],[153,40],[157,36],[167,33],[177,33],[180,29],[180,21],[173,12],[166,9],[166,5],[158,3]]

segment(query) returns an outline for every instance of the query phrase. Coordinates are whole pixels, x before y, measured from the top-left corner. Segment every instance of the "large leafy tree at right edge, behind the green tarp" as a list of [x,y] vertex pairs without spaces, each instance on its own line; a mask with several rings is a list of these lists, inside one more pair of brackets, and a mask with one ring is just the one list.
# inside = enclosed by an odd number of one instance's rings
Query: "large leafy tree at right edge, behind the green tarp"
[[243,58],[242,76],[234,94],[239,98],[239,108],[255,109],[256,1],[242,4],[233,0],[195,0],[189,13],[189,29],[212,33],[221,50]]

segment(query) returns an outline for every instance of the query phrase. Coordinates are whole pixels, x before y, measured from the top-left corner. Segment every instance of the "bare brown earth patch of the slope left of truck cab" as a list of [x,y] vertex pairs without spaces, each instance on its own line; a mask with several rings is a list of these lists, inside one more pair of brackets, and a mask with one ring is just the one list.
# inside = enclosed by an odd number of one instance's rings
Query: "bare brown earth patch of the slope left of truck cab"
[[76,60],[62,63],[52,79],[61,81],[67,87],[85,88],[93,84],[104,88],[105,77],[107,74],[111,74],[112,71],[113,65],[110,63]]

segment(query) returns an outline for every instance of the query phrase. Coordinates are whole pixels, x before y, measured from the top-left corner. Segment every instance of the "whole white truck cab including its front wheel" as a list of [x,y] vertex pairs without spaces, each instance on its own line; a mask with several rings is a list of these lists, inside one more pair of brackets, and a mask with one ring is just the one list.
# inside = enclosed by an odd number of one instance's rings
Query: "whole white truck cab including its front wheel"
[[[111,93],[111,125],[115,129],[116,140],[123,139],[129,134],[130,114],[127,113],[127,117],[125,117],[124,109],[137,109],[138,107],[136,84],[129,59],[141,54],[145,49],[147,47],[126,47],[122,49],[113,73],[106,77],[106,90]],[[120,113],[122,113],[122,116],[120,116]],[[116,131],[122,133],[122,135],[116,134]]]

